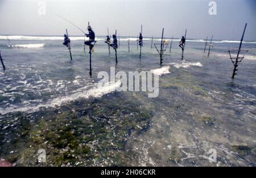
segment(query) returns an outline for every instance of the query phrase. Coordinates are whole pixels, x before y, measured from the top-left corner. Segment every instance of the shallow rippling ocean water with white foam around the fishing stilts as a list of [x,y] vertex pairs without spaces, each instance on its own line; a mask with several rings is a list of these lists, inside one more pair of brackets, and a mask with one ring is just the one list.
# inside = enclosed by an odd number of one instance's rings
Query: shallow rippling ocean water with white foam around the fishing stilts
[[[115,65],[102,38],[92,54],[92,77],[79,37],[71,39],[73,61],[58,38],[0,40],[6,65],[0,70],[1,159],[16,166],[255,166],[255,42],[243,43],[249,52],[232,80],[228,50],[237,41],[214,41],[208,58],[204,41],[187,40],[183,61],[174,41],[160,66],[149,39],[139,60],[136,41],[128,53],[122,37]],[[126,73],[168,71],[159,76],[159,96],[148,98],[147,92],[98,90],[98,72],[113,66]],[[39,149],[46,150],[46,163],[38,163]],[[209,162],[210,149],[217,162]]]

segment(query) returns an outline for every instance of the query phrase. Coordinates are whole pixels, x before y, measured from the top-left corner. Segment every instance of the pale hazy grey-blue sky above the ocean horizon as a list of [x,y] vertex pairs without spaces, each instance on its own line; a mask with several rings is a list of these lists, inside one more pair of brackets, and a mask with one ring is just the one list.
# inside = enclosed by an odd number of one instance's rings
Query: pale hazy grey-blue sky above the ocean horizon
[[[46,15],[38,14],[38,3],[46,3]],[[88,21],[97,35],[117,29],[120,36],[180,37],[240,40],[247,22],[245,40],[256,40],[255,0],[216,0],[217,15],[209,15],[210,0],[0,0],[0,34],[70,35],[82,33],[59,14],[84,31]],[[55,13],[55,14],[54,14]]]

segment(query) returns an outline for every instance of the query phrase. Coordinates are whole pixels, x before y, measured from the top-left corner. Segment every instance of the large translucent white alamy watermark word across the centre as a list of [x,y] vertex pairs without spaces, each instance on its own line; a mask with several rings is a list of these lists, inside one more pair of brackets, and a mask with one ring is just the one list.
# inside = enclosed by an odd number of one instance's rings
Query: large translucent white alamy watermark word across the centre
[[148,92],[148,98],[156,98],[159,94],[159,76],[150,71],[141,71],[140,73],[138,71],[129,71],[127,76],[125,71],[115,73],[115,67],[110,67],[110,76],[106,71],[100,71],[97,78],[102,78],[98,82],[98,88],[109,87],[112,83],[119,83],[118,87],[113,87],[111,90],[144,91]]

